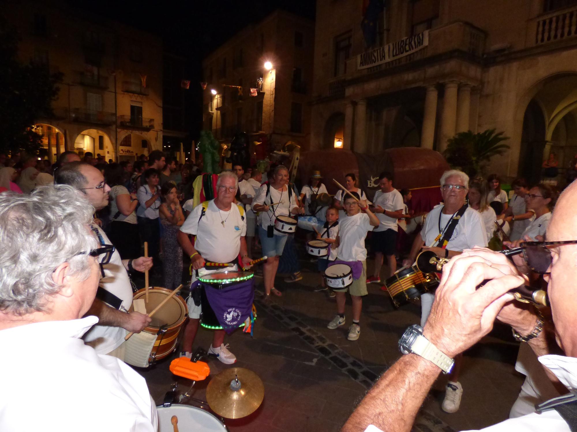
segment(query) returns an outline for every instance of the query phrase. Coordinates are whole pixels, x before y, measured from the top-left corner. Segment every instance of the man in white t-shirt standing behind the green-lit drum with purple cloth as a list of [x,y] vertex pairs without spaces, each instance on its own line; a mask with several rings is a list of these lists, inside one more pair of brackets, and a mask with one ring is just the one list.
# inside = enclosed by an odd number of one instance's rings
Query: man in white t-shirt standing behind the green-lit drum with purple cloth
[[[190,256],[192,263],[192,286],[188,300],[188,316],[182,340],[182,355],[190,357],[192,345],[202,312],[198,299],[195,302],[193,295],[197,278],[220,271],[237,271],[238,266],[207,270],[205,261],[213,263],[236,262],[241,255],[241,264],[248,268],[250,257],[246,251],[246,218],[242,206],[234,203],[238,190],[238,178],[233,172],[221,173],[216,182],[216,198],[196,206],[178,232],[178,242],[183,251]],[[242,211],[242,213],[241,213]],[[194,245],[188,234],[196,236]],[[254,294],[254,293],[253,293]],[[250,302],[252,304],[252,301]],[[228,344],[224,345],[224,329],[216,329],[212,338],[212,345],[208,354],[218,358],[221,362],[232,364],[237,361],[233,353],[228,351]]]

